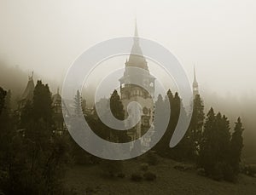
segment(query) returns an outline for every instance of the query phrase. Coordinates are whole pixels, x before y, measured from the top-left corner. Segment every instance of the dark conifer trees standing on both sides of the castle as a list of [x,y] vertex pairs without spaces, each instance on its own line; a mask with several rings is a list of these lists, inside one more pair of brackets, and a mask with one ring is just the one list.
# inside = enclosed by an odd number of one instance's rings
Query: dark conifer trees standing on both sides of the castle
[[[10,106],[11,92],[0,88],[0,192],[5,194],[69,194],[63,186],[65,169],[70,163],[98,163],[100,160],[84,152],[69,134],[56,135],[51,93],[48,84],[38,81],[32,101],[17,116]],[[113,116],[123,120],[125,111],[116,90],[110,97]],[[228,118],[211,108],[204,113],[200,95],[195,95],[189,129],[183,140],[169,147],[180,113],[185,113],[181,98],[168,90],[158,96],[156,109],[172,109],[165,135],[152,148],[164,158],[189,161],[204,169],[216,180],[236,181],[240,171],[243,147],[241,118],[230,129]],[[74,97],[75,114],[83,114],[79,92]],[[183,117],[186,117],[185,114]],[[99,118],[88,115],[86,121],[97,135],[113,142],[130,141],[125,131],[109,129]],[[105,162],[106,163],[106,162]],[[107,164],[113,164],[108,161]]]

